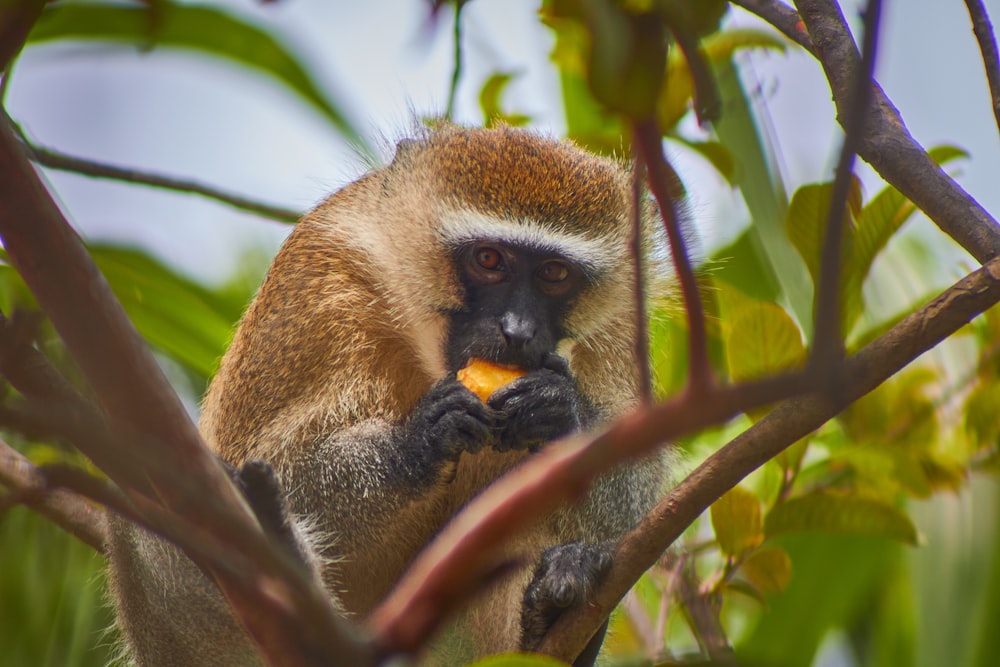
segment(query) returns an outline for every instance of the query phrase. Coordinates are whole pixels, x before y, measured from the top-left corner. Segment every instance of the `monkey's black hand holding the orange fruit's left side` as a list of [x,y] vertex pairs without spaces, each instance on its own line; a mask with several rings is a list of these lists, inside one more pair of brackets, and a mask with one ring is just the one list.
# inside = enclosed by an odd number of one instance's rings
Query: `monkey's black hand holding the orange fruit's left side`
[[458,380],[439,380],[403,423],[401,447],[413,476],[438,479],[462,452],[476,453],[496,439],[496,413]]

